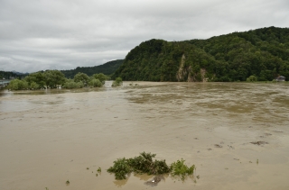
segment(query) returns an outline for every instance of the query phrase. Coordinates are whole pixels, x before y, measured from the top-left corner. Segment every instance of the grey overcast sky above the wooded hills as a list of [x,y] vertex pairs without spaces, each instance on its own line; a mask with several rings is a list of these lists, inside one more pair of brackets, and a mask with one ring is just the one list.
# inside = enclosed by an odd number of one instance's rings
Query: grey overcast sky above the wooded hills
[[124,59],[142,41],[289,27],[288,0],[0,0],[0,70]]

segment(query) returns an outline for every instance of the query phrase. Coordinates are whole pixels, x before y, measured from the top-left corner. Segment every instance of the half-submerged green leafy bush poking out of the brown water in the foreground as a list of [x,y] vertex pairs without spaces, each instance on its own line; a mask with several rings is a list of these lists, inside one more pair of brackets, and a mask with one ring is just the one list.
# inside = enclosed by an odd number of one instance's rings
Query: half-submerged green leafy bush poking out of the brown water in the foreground
[[118,158],[114,161],[114,165],[107,169],[107,172],[114,173],[116,179],[126,179],[131,172],[147,175],[163,175],[171,174],[172,176],[180,176],[182,180],[185,176],[193,174],[195,166],[188,167],[184,164],[183,159],[167,165],[165,159],[157,160],[155,154],[140,153],[135,158]]

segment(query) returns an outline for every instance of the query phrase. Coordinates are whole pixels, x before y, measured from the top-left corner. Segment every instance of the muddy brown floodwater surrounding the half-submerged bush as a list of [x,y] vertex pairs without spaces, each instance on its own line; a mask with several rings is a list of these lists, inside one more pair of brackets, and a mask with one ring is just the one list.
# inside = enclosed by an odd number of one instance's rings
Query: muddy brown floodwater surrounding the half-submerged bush
[[[289,189],[288,84],[130,83],[2,92],[0,189]],[[142,151],[196,171],[154,187],[107,173]]]

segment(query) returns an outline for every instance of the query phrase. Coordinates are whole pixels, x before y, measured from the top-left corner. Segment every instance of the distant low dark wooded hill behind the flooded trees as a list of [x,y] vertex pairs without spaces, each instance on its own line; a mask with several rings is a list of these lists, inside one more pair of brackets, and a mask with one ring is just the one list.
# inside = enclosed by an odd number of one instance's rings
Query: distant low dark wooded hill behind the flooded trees
[[61,70],[61,72],[65,75],[65,77],[73,78],[76,74],[79,72],[85,73],[88,76],[92,76],[96,73],[103,73],[105,75],[112,75],[117,68],[120,67],[121,64],[123,64],[124,59],[117,59],[109,61],[103,65],[100,66],[94,66],[94,67],[82,67],[82,68],[75,68],[71,70]]

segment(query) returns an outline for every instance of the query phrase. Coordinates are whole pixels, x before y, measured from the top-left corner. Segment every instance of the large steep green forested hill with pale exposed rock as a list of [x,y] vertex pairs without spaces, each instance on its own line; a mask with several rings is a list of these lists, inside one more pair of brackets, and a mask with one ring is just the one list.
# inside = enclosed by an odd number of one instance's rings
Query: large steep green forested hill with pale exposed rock
[[289,29],[262,28],[208,40],[144,41],[113,77],[147,81],[245,81],[255,76],[289,79]]

